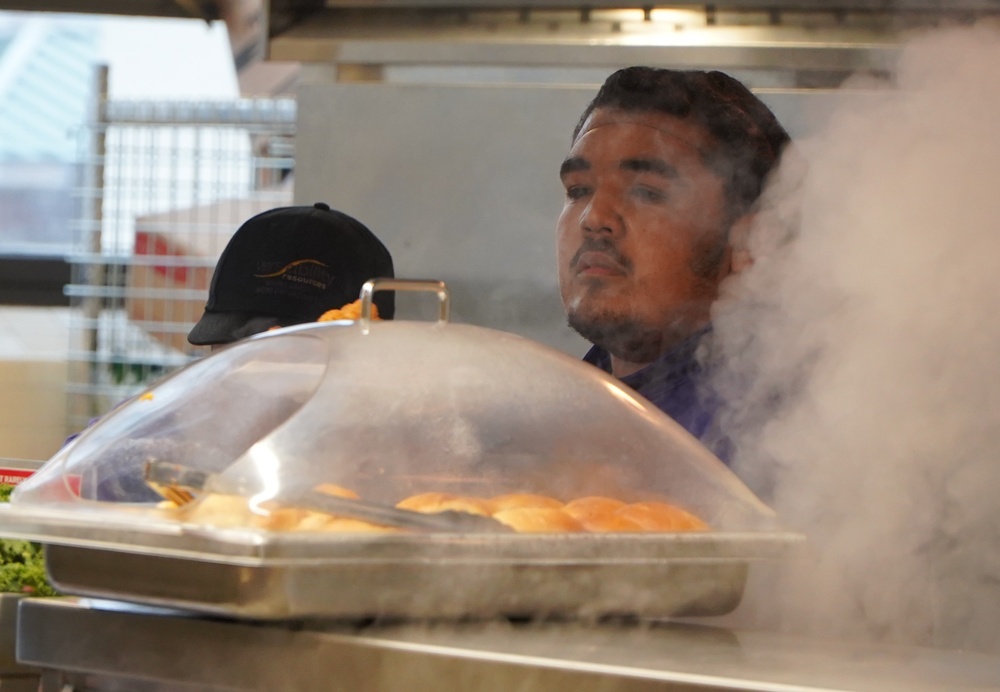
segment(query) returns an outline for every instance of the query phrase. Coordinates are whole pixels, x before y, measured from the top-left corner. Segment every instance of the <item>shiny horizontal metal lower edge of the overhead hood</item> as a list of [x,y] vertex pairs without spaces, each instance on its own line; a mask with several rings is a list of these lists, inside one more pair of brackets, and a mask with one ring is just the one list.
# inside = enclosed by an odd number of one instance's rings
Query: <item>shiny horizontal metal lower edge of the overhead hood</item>
[[527,31],[475,24],[427,29],[360,25],[336,15],[304,20],[270,44],[273,60],[392,66],[603,67],[623,65],[721,70],[887,70],[898,51],[894,32],[799,27],[695,27],[675,32],[597,31],[572,24],[558,31]]

